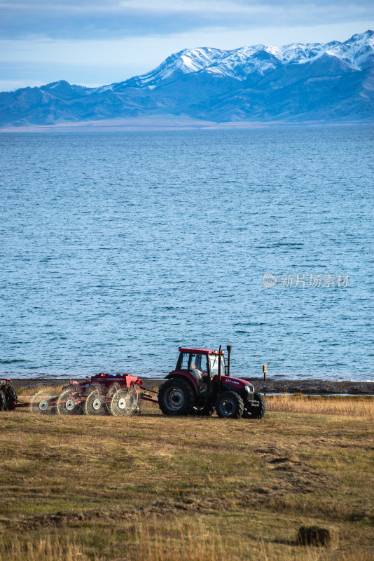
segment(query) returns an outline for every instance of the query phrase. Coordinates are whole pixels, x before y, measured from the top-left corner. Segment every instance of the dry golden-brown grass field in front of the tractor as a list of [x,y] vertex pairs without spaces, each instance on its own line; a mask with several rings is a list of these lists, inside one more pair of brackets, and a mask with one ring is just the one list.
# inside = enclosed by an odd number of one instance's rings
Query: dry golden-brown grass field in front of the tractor
[[374,399],[266,400],[255,421],[1,413],[0,561],[373,560]]

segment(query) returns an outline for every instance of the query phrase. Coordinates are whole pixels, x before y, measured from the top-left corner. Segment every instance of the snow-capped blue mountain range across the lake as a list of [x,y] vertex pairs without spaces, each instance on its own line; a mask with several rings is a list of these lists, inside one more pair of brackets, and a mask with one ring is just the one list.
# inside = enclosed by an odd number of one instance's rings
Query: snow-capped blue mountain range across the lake
[[99,88],[67,81],[0,93],[0,126],[170,116],[228,122],[374,121],[374,32],[344,43],[194,48]]

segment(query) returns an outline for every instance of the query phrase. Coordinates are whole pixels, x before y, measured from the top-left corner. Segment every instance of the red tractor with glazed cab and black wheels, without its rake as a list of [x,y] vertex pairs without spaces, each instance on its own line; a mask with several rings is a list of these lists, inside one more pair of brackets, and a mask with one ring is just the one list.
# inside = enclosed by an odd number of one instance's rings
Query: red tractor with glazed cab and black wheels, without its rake
[[265,400],[255,393],[249,381],[230,376],[231,345],[225,353],[210,349],[179,347],[175,370],[160,387],[158,403],[165,415],[211,415],[219,417],[261,419]]

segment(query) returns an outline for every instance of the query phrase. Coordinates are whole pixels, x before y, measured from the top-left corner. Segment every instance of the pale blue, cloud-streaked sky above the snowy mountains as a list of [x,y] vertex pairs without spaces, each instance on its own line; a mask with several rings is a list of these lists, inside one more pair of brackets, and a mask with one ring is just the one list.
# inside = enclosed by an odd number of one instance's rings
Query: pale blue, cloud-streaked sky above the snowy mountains
[[0,0],[0,90],[98,86],[183,48],[344,41],[373,27],[372,0]]

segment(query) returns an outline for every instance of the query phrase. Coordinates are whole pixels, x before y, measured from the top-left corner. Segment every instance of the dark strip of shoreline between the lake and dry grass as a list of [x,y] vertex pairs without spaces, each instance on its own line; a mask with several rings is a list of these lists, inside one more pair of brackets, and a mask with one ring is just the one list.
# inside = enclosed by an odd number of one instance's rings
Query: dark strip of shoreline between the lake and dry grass
[[[61,386],[69,384],[71,378],[13,378],[11,385],[16,390],[33,389],[38,386]],[[243,378],[253,384],[255,391],[259,393],[305,393],[308,395],[349,395],[349,396],[373,396],[374,381],[334,381],[322,379],[287,379],[275,380],[261,378]],[[86,378],[76,378],[77,381],[85,381]],[[165,378],[144,379],[144,388],[160,388]]]

